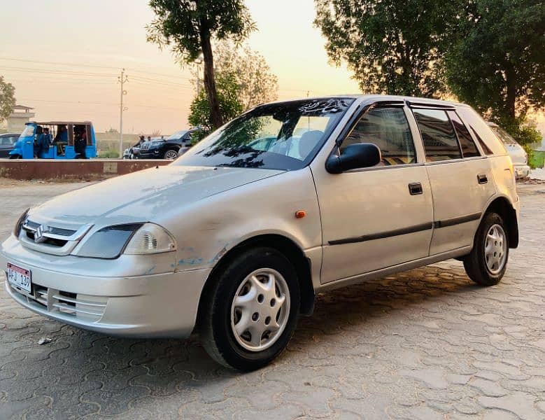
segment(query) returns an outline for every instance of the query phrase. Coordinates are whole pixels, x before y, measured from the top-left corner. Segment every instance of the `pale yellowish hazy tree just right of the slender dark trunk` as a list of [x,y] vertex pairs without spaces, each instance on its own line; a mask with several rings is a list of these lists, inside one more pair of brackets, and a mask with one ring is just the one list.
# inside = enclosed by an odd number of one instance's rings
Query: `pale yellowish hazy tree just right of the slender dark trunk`
[[278,78],[259,52],[248,45],[237,48],[231,41],[224,41],[216,45],[214,56],[215,71],[228,71],[236,76],[243,111],[278,99]]

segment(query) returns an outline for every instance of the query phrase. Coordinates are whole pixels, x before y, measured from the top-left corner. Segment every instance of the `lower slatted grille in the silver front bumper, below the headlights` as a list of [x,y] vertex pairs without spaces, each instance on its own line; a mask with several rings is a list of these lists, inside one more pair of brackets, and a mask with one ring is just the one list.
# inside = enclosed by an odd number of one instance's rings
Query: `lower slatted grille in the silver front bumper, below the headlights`
[[32,286],[34,289],[32,293],[27,293],[10,283],[8,283],[8,287],[14,293],[17,293],[20,298],[26,300],[31,307],[45,309],[52,314],[56,312],[66,316],[73,316],[90,322],[100,320],[108,302],[108,297],[71,293],[38,286],[37,284]]

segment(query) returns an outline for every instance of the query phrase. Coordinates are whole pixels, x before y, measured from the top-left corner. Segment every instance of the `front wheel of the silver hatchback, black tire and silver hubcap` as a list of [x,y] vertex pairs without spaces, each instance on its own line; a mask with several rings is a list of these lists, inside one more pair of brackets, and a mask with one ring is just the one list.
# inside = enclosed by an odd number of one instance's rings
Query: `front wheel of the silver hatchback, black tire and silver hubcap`
[[246,372],[274,360],[297,325],[300,292],[292,263],[273,248],[254,248],[211,281],[197,325],[206,352],[221,365]]

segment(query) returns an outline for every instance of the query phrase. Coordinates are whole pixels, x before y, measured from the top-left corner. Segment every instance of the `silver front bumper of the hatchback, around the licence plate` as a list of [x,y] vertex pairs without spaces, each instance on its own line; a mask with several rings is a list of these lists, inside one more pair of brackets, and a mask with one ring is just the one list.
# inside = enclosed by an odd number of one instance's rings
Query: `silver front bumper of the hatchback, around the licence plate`
[[[100,276],[104,262],[115,264],[116,260],[95,260],[97,276],[90,276],[90,258],[80,258],[85,270],[66,272],[55,267],[53,261],[43,264],[24,258],[29,253],[36,254],[20,244],[8,250],[3,246],[0,251],[2,271],[6,271],[7,262],[31,271],[31,293],[8,283],[6,273],[6,290],[15,301],[63,323],[125,337],[188,337],[197,319],[201,290],[211,271]],[[78,257],[57,257],[61,258]]]

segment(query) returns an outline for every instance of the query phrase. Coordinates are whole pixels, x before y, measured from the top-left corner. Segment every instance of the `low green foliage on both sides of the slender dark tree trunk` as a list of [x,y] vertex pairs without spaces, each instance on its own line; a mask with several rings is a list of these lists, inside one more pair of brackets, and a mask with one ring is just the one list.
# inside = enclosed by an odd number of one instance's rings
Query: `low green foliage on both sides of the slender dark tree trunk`
[[[230,71],[218,71],[216,73],[216,85],[218,88],[218,102],[224,121],[232,120],[243,111],[243,104],[239,99],[241,88],[236,74]],[[201,127],[201,132],[192,136],[193,141],[202,139],[213,130],[212,112],[206,93],[201,90],[193,99],[190,106],[190,116],[187,118],[190,125]]]

